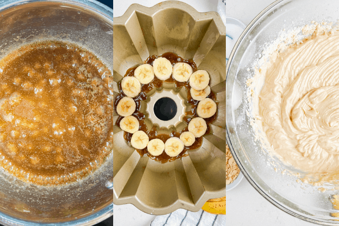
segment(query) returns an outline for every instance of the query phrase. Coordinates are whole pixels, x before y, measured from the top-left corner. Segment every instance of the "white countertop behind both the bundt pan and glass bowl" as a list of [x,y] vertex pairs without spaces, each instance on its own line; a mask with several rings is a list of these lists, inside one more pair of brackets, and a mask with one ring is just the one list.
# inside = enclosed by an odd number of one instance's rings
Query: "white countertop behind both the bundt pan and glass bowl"
[[[121,16],[132,3],[153,6],[163,0],[115,0],[114,16]],[[200,12],[216,11],[217,0],[181,0]],[[273,0],[226,0],[226,15],[250,21]],[[313,226],[314,224],[299,220],[264,199],[248,182],[243,179],[240,184],[227,192],[226,216],[231,226]],[[155,216],[145,214],[133,205],[121,205],[114,208],[115,226],[150,226]]]

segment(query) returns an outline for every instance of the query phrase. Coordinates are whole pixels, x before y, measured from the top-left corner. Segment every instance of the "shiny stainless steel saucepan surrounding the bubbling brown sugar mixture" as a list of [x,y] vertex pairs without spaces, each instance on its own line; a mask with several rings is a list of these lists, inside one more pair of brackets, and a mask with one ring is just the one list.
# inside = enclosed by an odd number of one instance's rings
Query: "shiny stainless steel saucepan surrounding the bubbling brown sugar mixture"
[[[95,0],[0,2],[0,58],[30,42],[54,39],[92,51],[113,71],[113,10]],[[23,183],[0,169],[0,224],[94,225],[113,215],[113,155],[80,182]]]

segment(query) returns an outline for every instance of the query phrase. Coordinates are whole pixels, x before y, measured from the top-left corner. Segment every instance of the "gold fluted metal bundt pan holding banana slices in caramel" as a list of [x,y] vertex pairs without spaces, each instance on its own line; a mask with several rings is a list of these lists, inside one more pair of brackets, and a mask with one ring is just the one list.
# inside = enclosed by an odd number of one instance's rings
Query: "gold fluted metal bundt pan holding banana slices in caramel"
[[[194,59],[198,69],[209,73],[218,104],[217,119],[210,125],[210,133],[203,136],[202,146],[165,164],[141,157],[115,125],[114,204],[133,204],[146,213],[164,215],[179,208],[196,212],[208,199],[225,196],[226,28],[220,16],[216,12],[199,13],[179,1],[165,1],[151,8],[132,4],[123,16],[113,19],[113,28],[114,96],[129,68],[142,64],[150,55],[174,52]],[[182,114],[190,107],[187,90],[176,90],[164,82],[164,89],[148,96],[141,105],[148,129],[158,124],[162,126],[159,131],[166,133],[187,126],[180,117],[174,117],[170,125],[159,121],[151,106],[156,98],[172,97],[177,114]],[[115,112],[114,120],[118,117]]]

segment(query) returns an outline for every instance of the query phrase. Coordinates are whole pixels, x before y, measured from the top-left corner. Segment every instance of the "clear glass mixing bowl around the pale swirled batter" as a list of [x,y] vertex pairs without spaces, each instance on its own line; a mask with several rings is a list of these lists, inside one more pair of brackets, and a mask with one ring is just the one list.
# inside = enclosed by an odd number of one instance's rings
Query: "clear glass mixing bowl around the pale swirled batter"
[[[281,210],[300,219],[324,225],[338,225],[339,211],[334,208],[337,190],[318,191],[317,187],[297,182],[297,177],[275,172],[284,166],[263,150],[246,114],[246,81],[253,76],[252,64],[265,44],[277,39],[280,32],[315,21],[339,18],[338,0],[278,0],[265,8],[247,26],[232,50],[226,70],[226,130],[231,152],[252,186]],[[247,68],[251,68],[249,71]],[[287,168],[287,167],[286,167]],[[293,167],[290,171],[297,172]],[[337,207],[338,208],[338,207]]]

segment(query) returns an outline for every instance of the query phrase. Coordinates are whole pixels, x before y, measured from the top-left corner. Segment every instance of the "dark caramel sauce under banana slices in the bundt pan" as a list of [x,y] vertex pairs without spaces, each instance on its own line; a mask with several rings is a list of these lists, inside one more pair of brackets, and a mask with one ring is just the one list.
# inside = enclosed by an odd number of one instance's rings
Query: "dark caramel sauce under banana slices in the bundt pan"
[[[183,59],[182,57],[178,56],[177,54],[171,53],[171,52],[164,53],[163,55],[160,55],[160,56],[152,55],[152,56],[148,57],[147,60],[144,63],[150,64],[150,65],[153,66],[154,60],[159,58],[159,57],[167,58],[170,61],[170,63],[172,64],[172,66],[174,66],[178,62],[187,63],[192,67],[193,73],[195,71],[197,71],[197,66],[192,59]],[[124,77],[134,76],[134,71],[137,69],[138,66],[128,69]],[[132,115],[139,120],[139,123],[140,123],[139,130],[144,131],[149,136],[150,140],[160,139],[165,143],[170,137],[178,137],[179,138],[181,133],[188,131],[188,127],[185,127],[182,131],[171,131],[169,134],[158,134],[156,125],[154,125],[150,130],[148,130],[148,128],[147,128],[147,126],[144,122],[145,115],[143,113],[139,112],[140,106],[141,106],[141,101],[147,99],[147,93],[150,92],[151,90],[153,90],[154,88],[159,89],[160,87],[162,87],[164,82],[168,82],[168,83],[174,82],[176,88],[185,87],[187,89],[187,101],[190,105],[192,105],[191,111],[186,112],[185,113],[186,116],[183,117],[183,120],[187,125],[192,118],[198,117],[198,115],[196,114],[196,107],[197,107],[199,101],[194,100],[192,98],[192,96],[190,95],[189,81],[178,82],[175,79],[173,79],[172,76],[170,76],[169,79],[167,79],[165,81],[162,81],[155,76],[154,79],[149,84],[141,84],[141,93],[137,97],[133,98],[134,101],[136,102],[137,107],[136,107],[136,111]],[[122,90],[121,82],[119,83],[119,91],[120,91],[120,93],[115,97],[115,100],[114,100],[114,109],[117,108],[119,101],[123,97],[126,96],[124,94],[123,90]],[[214,102],[216,101],[216,96],[213,93],[213,91],[211,91],[211,93],[207,97],[212,99]],[[217,118],[217,113],[215,113],[212,117],[205,119],[206,124],[207,124],[207,130],[206,130],[205,134],[210,133],[211,129],[210,129],[209,124],[211,124],[216,118]],[[123,119],[123,117],[119,116],[119,118],[116,121],[117,126],[120,127],[120,121],[122,119]],[[124,131],[124,139],[129,144],[131,143],[132,135],[133,134]],[[161,163],[166,163],[166,162],[172,162],[176,159],[180,159],[182,157],[188,156],[188,154],[186,153],[187,151],[195,150],[195,149],[201,147],[201,145],[202,145],[202,137],[195,138],[195,142],[191,146],[189,146],[189,147],[184,146],[183,151],[175,157],[170,157],[169,155],[166,154],[165,151],[160,156],[153,156],[147,151],[147,148],[142,149],[142,150],[137,149],[137,152],[141,156],[148,156],[153,160],[159,161]]]

